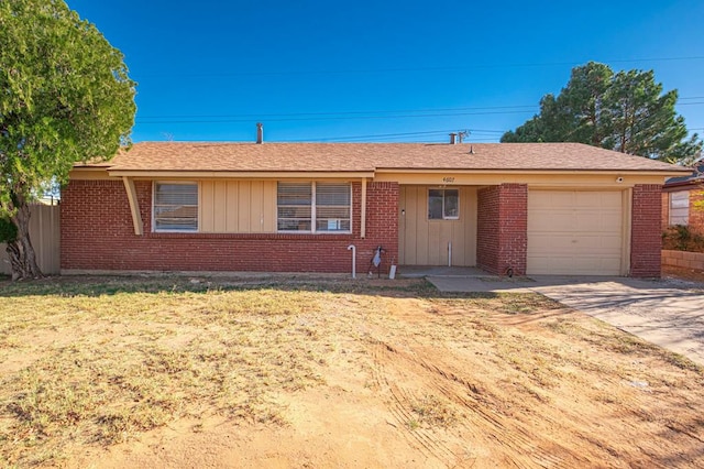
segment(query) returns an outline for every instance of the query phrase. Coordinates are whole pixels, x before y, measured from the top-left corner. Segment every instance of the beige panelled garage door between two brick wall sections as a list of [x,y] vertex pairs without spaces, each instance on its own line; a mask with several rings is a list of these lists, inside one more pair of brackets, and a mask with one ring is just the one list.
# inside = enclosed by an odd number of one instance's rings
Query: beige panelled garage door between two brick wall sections
[[617,190],[529,190],[529,274],[619,275],[623,197]]

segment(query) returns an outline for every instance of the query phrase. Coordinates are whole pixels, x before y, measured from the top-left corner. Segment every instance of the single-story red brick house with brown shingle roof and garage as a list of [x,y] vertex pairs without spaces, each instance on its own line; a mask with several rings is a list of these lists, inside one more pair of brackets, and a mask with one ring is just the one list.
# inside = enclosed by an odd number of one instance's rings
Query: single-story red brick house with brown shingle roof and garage
[[682,170],[576,143],[136,143],[62,192],[62,272],[660,275]]

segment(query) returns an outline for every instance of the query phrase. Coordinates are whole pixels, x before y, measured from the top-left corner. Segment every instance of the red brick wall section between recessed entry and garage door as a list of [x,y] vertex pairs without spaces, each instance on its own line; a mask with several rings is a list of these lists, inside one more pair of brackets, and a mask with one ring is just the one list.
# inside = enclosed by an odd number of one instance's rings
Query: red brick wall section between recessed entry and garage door
[[502,184],[479,192],[477,266],[506,274],[526,274],[528,249],[528,186]]

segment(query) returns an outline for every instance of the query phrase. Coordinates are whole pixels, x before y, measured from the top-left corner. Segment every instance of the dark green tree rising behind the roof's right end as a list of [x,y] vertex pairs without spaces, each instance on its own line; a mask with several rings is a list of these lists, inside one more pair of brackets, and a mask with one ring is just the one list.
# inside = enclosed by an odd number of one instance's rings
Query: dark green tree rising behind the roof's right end
[[678,92],[662,91],[652,70],[614,73],[590,62],[572,69],[556,98],[540,100],[540,113],[502,142],[580,142],[662,161],[682,161],[702,151],[688,138],[684,118],[674,110]]

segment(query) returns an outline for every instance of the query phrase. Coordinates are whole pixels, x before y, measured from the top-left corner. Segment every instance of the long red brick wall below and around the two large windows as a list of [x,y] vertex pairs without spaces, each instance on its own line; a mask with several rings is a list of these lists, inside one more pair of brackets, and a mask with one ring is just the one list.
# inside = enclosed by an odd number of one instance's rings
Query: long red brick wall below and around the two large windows
[[361,184],[353,184],[352,234],[153,233],[152,184],[136,182],[144,234],[135,236],[121,181],[72,181],[62,192],[62,270],[351,272],[382,271],[398,259],[398,184],[367,185],[366,239],[360,238]]

